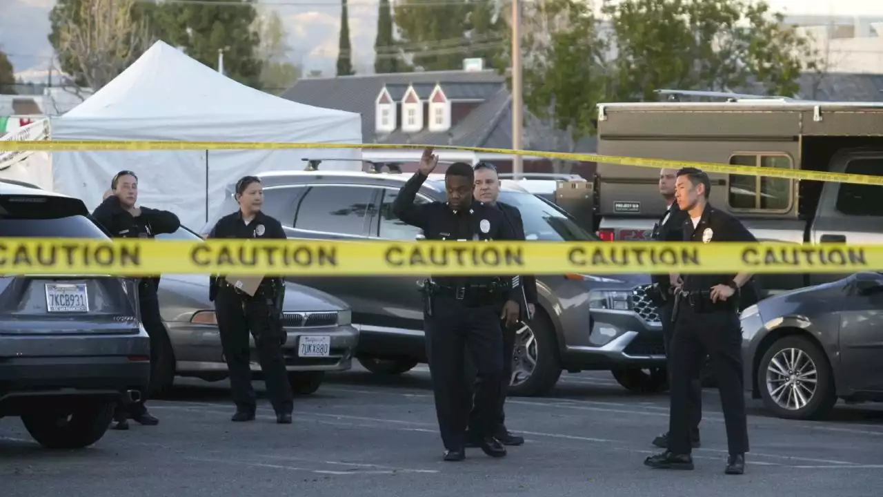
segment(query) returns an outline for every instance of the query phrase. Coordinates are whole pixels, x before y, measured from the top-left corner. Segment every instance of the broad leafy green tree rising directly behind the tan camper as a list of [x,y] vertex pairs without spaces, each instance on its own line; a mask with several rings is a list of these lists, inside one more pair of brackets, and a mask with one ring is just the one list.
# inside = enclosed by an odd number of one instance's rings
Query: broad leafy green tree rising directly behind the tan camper
[[618,72],[615,95],[655,100],[659,88],[727,91],[748,85],[793,96],[815,67],[808,39],[752,0],[606,0]]

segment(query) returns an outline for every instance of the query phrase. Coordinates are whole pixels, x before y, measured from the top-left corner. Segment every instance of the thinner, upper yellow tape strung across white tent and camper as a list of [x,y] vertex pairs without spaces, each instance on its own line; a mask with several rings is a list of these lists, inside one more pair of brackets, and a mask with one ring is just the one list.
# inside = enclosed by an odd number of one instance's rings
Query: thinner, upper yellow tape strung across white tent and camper
[[707,162],[647,159],[640,157],[600,156],[598,154],[573,154],[568,152],[540,152],[535,150],[486,149],[481,147],[456,147],[452,145],[415,145],[404,143],[286,143],[263,141],[0,141],[0,151],[143,151],[143,150],[233,150],[233,149],[434,149],[468,150],[487,154],[547,157],[580,162],[633,165],[656,169],[697,167],[705,172],[743,174],[764,178],[787,180],[816,180],[858,185],[883,185],[883,176],[868,174],[842,174],[837,172],[806,171],[781,167],[756,167],[751,165],[715,164]]

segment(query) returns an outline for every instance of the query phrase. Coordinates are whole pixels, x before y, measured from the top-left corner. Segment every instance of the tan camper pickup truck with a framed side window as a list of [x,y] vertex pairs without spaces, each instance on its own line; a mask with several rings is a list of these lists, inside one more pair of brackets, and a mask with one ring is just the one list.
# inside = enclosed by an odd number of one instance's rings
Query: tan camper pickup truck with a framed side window
[[[883,176],[883,103],[731,98],[728,102],[604,103],[598,153]],[[709,174],[711,202],[759,241],[883,241],[883,187]],[[659,170],[598,164],[592,227],[604,241],[650,240],[665,210]],[[572,187],[567,181],[560,189]],[[846,274],[758,276],[765,294]]]

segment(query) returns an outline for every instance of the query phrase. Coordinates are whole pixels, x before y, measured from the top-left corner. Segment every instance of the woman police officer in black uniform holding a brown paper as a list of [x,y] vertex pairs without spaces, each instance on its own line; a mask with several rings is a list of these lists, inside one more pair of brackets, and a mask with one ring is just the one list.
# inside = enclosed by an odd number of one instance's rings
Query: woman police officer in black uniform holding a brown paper
[[[236,184],[239,210],[219,219],[208,238],[285,240],[282,224],[260,211],[263,195],[258,178],[245,176],[239,180]],[[291,424],[293,398],[282,353],[284,291],[283,280],[279,278],[261,279],[254,295],[240,291],[223,276],[211,278],[209,299],[215,302],[221,345],[230,371],[230,389],[236,403],[232,421],[253,421],[257,410],[248,340],[251,332],[276,423]]]

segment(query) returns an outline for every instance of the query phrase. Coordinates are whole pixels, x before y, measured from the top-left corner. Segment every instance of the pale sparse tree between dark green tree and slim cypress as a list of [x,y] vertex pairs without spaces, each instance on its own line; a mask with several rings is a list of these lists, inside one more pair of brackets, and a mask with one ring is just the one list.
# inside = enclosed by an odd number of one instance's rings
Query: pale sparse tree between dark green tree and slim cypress
[[258,59],[260,60],[260,87],[276,93],[290,88],[300,77],[301,69],[289,61],[291,47],[286,38],[288,33],[279,17],[273,11],[269,16],[255,21],[255,30],[260,38]]

